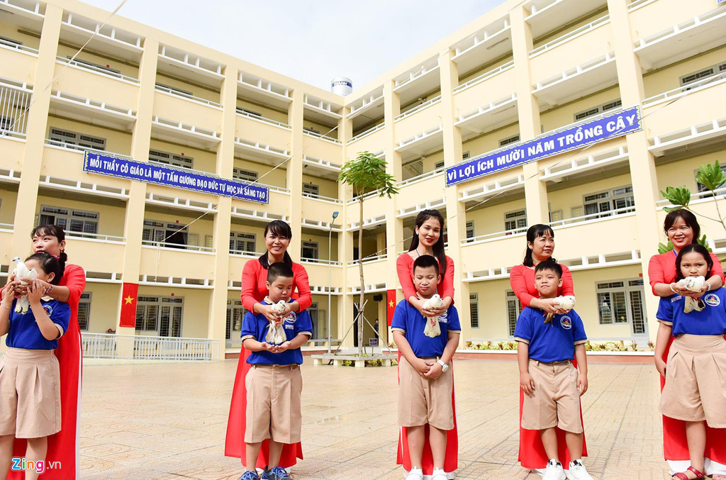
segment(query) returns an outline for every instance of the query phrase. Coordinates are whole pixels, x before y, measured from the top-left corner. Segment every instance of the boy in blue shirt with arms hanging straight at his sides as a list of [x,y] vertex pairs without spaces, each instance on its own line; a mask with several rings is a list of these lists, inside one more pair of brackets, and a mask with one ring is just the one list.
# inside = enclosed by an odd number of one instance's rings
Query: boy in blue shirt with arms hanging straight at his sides
[[[555,298],[562,285],[562,267],[552,260],[534,269],[534,286],[539,298]],[[587,391],[587,358],[582,319],[574,311],[558,314],[544,323],[546,313],[526,307],[517,319],[514,339],[518,342],[519,381],[524,391],[522,428],[539,430],[550,461],[543,480],[565,480],[558,458],[555,427],[565,431],[572,461],[569,478],[592,480],[582,465],[582,420],[579,396]],[[577,359],[578,369],[572,365]]]

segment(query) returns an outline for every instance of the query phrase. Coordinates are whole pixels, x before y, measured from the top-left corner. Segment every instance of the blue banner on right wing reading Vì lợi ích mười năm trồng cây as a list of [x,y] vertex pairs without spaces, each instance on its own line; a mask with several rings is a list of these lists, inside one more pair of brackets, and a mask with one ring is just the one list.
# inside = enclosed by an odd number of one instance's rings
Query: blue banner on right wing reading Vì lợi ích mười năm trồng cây
[[446,168],[446,187],[642,129],[640,107],[618,110]]

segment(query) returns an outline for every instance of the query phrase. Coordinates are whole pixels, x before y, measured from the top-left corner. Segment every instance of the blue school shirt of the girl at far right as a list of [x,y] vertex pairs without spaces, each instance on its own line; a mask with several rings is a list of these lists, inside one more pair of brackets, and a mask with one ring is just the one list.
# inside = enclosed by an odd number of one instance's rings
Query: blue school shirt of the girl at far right
[[672,295],[661,298],[656,318],[673,326],[673,336],[724,335],[726,333],[726,290],[719,288],[701,297],[706,308],[698,312],[683,312],[685,298]]

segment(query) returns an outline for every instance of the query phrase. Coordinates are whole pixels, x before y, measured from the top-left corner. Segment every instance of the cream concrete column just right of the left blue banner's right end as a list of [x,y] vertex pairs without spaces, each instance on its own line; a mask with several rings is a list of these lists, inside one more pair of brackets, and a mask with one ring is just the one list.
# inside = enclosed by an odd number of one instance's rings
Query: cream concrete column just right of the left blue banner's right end
[[[287,110],[288,123],[293,129],[292,140],[290,141],[290,160],[287,167],[287,188],[290,189],[290,228],[293,229],[293,240],[287,253],[293,257],[293,261],[300,261],[303,248],[301,239],[301,224],[303,221],[303,92],[293,91],[293,101]],[[280,167],[282,168],[282,167]]]

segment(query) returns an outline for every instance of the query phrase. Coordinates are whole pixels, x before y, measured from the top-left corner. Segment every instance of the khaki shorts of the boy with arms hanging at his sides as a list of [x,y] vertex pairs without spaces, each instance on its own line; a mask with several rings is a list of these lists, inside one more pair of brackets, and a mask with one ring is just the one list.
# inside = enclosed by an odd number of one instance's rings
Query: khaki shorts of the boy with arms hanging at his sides
[[529,360],[534,394],[524,396],[522,428],[544,430],[559,427],[582,434],[577,369],[572,362],[542,363]]

